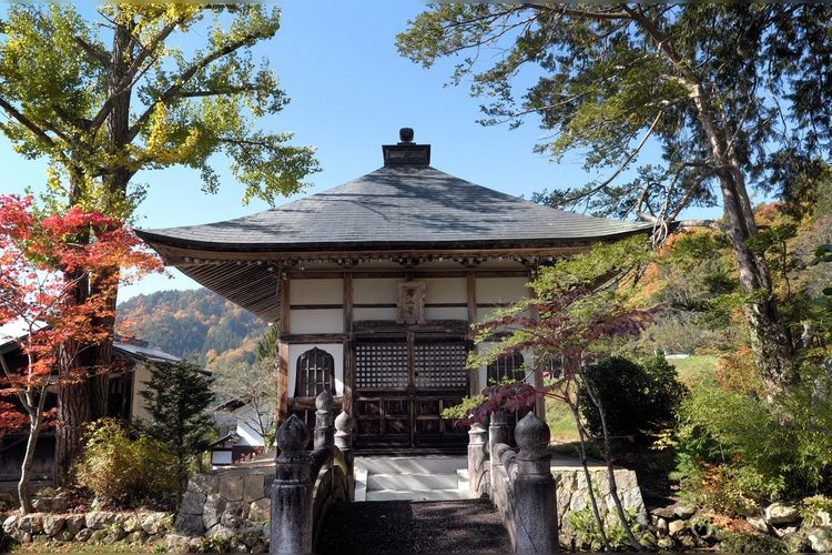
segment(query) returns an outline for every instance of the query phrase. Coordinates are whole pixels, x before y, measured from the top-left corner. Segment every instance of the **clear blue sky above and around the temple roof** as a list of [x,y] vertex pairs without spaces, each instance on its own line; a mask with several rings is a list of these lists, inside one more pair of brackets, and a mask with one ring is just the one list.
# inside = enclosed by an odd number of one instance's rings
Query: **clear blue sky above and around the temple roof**
[[[294,132],[294,143],[317,149],[323,171],[310,176],[312,186],[302,195],[381,167],[381,145],[398,141],[402,127],[415,130],[416,142],[432,144],[434,168],[509,194],[530,198],[536,191],[580,185],[596,176],[582,171],[580,153],[560,164],[532,153],[545,133],[534,120],[517,130],[476,123],[480,101],[469,97],[464,84],[445,85],[453,60],[424,70],[398,56],[395,36],[424,3],[286,0],[281,6],[282,28],[272,41],[258,47],[255,58],[268,58],[292,99],[263,127]],[[217,158],[215,167],[224,176],[216,195],[200,191],[195,172],[139,173],[134,179],[146,183],[150,193],[136,212],[136,226],[193,225],[267,208],[258,201],[241,205],[242,190],[227,173],[227,160]],[[4,139],[0,139],[0,192],[21,192],[26,185],[44,181],[44,162],[22,160]],[[145,279],[120,297],[199,286],[176,271],[171,274],[173,279]]]

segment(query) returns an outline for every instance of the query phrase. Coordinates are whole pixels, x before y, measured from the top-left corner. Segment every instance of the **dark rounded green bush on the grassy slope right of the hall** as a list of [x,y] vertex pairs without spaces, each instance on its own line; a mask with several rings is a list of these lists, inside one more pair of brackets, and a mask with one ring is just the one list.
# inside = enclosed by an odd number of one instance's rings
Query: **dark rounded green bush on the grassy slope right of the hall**
[[[584,376],[598,395],[611,436],[639,435],[669,426],[688,392],[662,355],[646,359],[642,364],[613,356],[592,364]],[[578,392],[578,405],[589,431],[600,436],[600,414],[586,387]]]

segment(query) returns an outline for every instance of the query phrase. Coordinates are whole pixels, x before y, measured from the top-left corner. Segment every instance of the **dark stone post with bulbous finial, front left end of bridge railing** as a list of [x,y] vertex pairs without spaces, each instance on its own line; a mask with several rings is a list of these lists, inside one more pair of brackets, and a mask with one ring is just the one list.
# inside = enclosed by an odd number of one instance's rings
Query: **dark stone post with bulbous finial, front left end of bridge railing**
[[270,553],[312,553],[314,483],[306,443],[310,433],[297,415],[277,430],[276,475],[272,485]]

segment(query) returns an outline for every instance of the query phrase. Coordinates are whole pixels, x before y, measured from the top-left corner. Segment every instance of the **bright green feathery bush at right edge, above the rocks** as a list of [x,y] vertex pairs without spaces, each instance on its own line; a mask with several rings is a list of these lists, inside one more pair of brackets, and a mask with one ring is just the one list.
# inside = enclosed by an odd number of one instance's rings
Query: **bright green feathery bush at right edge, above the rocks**
[[830,488],[832,379],[804,372],[770,406],[757,395],[713,385],[694,389],[680,408],[677,472],[690,501],[748,514],[777,498]]

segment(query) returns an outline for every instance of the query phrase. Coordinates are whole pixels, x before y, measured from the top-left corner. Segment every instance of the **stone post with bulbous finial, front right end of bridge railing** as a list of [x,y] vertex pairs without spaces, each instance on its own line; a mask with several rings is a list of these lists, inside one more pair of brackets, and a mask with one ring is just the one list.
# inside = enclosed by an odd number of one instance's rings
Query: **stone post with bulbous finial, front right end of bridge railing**
[[551,475],[549,426],[529,413],[515,427],[519,453],[514,481],[515,552],[558,552],[555,478]]

